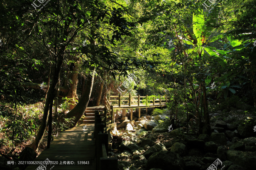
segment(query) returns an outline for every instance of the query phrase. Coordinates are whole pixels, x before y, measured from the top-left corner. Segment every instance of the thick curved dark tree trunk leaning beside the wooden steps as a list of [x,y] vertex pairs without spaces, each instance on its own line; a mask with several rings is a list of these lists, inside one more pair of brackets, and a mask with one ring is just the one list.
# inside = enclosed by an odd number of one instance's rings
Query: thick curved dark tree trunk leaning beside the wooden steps
[[94,71],[95,71],[95,67],[91,67],[90,70],[93,71],[93,75],[88,75],[88,80],[85,86],[85,92],[84,95],[82,95],[82,97],[80,98],[80,101],[77,103],[77,105],[74,107],[74,109],[72,109],[70,112],[68,112],[66,114],[66,118],[72,118],[75,117],[75,120],[73,120],[74,124],[73,126],[75,126],[77,124],[77,122],[79,121],[79,119],[82,117],[82,115],[84,114],[86,107],[88,106],[88,103],[90,101],[90,96],[92,93],[92,86],[93,86],[93,82],[94,82]]

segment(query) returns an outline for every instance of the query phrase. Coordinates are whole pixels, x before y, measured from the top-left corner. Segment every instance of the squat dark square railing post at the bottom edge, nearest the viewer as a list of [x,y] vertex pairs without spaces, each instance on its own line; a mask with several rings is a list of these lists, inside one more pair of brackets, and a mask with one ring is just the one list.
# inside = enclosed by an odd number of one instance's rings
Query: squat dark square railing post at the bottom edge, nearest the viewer
[[117,170],[117,158],[100,158],[100,170]]

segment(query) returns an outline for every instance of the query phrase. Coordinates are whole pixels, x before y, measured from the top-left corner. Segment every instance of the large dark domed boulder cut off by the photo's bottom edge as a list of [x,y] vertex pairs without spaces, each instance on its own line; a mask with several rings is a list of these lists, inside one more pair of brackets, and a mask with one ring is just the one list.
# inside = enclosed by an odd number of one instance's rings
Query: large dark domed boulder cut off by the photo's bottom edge
[[170,167],[175,170],[183,170],[185,160],[183,160],[175,152],[161,151],[152,154],[146,163],[146,170],[151,168],[161,168],[170,170]]

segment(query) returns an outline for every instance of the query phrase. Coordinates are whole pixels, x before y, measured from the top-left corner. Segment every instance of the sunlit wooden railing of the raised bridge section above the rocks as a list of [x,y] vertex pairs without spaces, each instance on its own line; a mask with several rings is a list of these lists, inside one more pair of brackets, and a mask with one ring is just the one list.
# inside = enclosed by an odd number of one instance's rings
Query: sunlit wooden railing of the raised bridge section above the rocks
[[[121,98],[124,98],[124,97],[128,97],[128,100],[121,100]],[[115,99],[111,99],[111,98],[115,98]],[[122,104],[122,105],[128,105],[128,106],[137,105],[137,106],[139,106],[140,102],[142,101],[141,98],[143,98],[143,99],[146,98],[146,100],[149,104],[151,104],[151,102],[152,102],[153,105],[155,105],[156,103],[161,105],[161,104],[167,103],[169,101],[168,99],[170,97],[164,96],[164,99],[163,99],[163,97],[160,95],[159,99],[155,99],[155,97],[153,97],[153,99],[149,100],[148,95],[146,95],[146,96],[140,96],[140,95],[131,96],[131,94],[129,94],[129,96],[121,96],[121,94],[119,94],[118,96],[113,96],[112,95],[112,96],[109,96],[108,98],[105,95],[105,108],[108,108],[110,106],[117,106],[117,105],[120,107],[122,101],[127,101],[128,102],[128,103]],[[134,101],[136,103],[132,103]],[[159,101],[159,102],[156,102],[156,101]],[[110,104],[110,102],[118,102],[118,104]]]

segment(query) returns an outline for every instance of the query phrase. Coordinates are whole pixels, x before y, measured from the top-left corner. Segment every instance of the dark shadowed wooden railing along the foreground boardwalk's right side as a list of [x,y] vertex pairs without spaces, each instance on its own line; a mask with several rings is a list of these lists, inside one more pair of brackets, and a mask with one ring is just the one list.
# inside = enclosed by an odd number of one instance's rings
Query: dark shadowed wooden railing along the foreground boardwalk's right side
[[[107,114],[109,114],[107,116]],[[117,158],[108,158],[110,144],[110,129],[113,126],[113,106],[111,109],[98,112],[95,111],[95,154],[97,170],[117,170]]]

